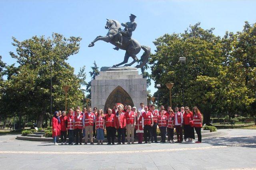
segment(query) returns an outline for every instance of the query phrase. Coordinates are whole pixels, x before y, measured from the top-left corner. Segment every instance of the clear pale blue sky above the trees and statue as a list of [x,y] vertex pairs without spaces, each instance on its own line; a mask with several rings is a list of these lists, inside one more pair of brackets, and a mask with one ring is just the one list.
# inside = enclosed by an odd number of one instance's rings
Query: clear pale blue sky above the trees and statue
[[[153,53],[156,38],[183,32],[197,22],[204,29],[214,27],[214,34],[220,36],[225,31],[241,31],[244,21],[256,22],[254,0],[0,0],[0,6],[0,55],[5,63],[16,63],[9,55],[15,51],[12,36],[19,41],[34,35],[48,37],[52,32],[80,36],[80,51],[68,63],[75,73],[85,65],[87,81],[94,60],[102,67],[120,63],[124,57],[125,51],[113,50],[113,45],[103,41],[88,47],[96,36],[106,35],[106,18],[121,23],[129,21],[130,13],[135,14],[138,26],[132,37],[150,46]],[[142,51],[137,57],[141,55]],[[154,82],[148,89],[152,94],[156,91]]]

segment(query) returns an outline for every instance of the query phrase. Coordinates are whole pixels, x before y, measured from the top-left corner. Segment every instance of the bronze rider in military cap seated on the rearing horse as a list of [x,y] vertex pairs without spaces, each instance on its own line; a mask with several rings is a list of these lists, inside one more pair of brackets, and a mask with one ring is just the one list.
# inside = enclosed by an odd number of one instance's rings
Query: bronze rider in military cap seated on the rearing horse
[[[136,29],[136,27],[137,27],[137,23],[134,21],[135,18],[136,18],[136,16],[133,15],[133,14],[131,14],[131,15],[129,16],[129,18],[130,18],[130,21],[129,21],[129,22],[121,23],[121,25],[122,25],[123,27],[125,27],[124,31],[118,31],[117,33],[115,33],[115,34],[113,35],[113,37],[114,37],[115,35],[118,35],[118,41],[119,41],[119,42],[116,42],[116,43],[117,43],[118,45],[120,45],[120,46],[122,46],[122,41],[123,41],[122,36],[128,37],[129,39],[131,39],[131,37],[132,37],[132,31],[134,31],[134,30]],[[115,50],[119,50],[118,47],[115,47],[114,49],[115,49]]]

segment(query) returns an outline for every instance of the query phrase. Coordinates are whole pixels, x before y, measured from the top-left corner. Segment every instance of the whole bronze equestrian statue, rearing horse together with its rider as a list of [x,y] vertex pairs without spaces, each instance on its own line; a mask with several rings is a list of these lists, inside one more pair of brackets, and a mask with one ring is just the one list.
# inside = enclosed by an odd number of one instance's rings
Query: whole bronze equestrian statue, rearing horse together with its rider
[[88,45],[88,47],[93,47],[96,41],[102,40],[115,45],[115,50],[125,50],[126,53],[124,55],[124,61],[122,63],[115,64],[112,67],[117,67],[122,64],[128,63],[129,57],[132,57],[133,61],[129,64],[125,64],[124,66],[131,66],[132,64],[138,62],[136,54],[140,52],[140,49],[143,49],[144,53],[141,56],[142,62],[139,65],[135,66],[136,68],[142,68],[148,62],[148,58],[150,56],[150,47],[140,45],[138,41],[132,38],[132,31],[134,31],[137,27],[137,23],[134,21],[135,18],[136,16],[131,14],[130,21],[121,24],[123,27],[125,27],[124,30],[121,29],[121,25],[118,21],[107,19],[107,23],[105,25],[105,28],[108,29],[107,35],[105,37],[96,37],[96,39],[94,39]]

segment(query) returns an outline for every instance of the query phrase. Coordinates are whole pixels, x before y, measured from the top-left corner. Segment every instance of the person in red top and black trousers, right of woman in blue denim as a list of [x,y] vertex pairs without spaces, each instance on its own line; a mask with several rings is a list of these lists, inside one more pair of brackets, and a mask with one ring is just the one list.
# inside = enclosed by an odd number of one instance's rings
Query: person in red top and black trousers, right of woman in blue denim
[[107,131],[107,139],[108,143],[107,145],[115,145],[114,139],[116,135],[116,129],[114,127],[114,114],[112,114],[112,109],[108,107],[107,109],[108,114],[105,115],[105,125],[106,125],[106,131]]

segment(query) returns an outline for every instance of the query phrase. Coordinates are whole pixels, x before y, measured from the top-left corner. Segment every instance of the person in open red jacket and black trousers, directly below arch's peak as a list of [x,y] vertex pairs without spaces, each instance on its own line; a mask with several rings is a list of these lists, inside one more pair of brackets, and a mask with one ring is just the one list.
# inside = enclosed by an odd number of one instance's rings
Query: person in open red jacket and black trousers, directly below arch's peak
[[122,144],[124,145],[126,119],[125,119],[125,113],[122,112],[122,106],[118,107],[118,111],[115,114],[114,126],[117,130],[117,135],[118,135],[118,143],[117,144],[118,145],[121,144],[121,136],[122,136]]

